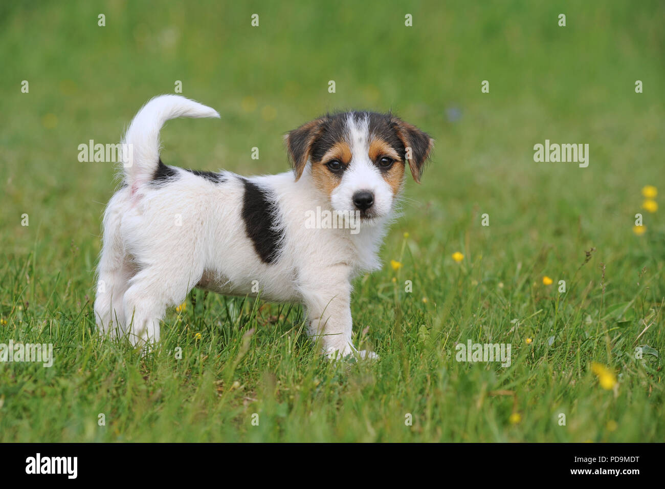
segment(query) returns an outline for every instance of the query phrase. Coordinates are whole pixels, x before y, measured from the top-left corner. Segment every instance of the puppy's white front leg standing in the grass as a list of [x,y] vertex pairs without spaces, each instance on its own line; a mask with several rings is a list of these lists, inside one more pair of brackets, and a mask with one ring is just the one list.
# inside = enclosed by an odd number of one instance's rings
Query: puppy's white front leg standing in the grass
[[351,284],[346,266],[321,270],[301,283],[307,332],[331,359],[352,353],[361,358],[377,358],[371,351],[357,351],[351,335]]

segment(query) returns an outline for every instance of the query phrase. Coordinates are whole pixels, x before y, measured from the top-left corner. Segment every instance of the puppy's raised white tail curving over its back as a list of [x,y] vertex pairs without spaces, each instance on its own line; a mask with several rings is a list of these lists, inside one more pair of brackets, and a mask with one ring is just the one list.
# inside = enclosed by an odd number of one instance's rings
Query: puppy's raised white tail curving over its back
[[122,139],[124,181],[132,188],[152,180],[160,161],[160,130],[177,117],[217,117],[213,108],[180,95],[152,98],[138,111]]

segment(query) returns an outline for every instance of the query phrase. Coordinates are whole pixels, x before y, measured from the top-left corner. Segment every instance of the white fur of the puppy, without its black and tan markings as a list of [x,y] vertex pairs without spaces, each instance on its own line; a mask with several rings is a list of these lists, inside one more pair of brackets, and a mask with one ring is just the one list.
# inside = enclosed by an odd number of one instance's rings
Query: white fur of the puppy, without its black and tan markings
[[[177,180],[154,186],[159,158],[159,129],[178,116],[219,117],[215,110],[186,98],[153,98],[136,115],[124,142],[133,145],[132,165],[124,168],[126,186],[112,196],[104,212],[98,292],[94,303],[100,331],[128,335],[140,345],[158,341],[167,307],[184,301],[199,285],[227,295],[250,295],[258,281],[260,297],[302,303],[309,334],[323,351],[357,352],[351,341],[352,279],[378,269],[378,248],[392,210],[392,193],[365,156],[366,124],[354,126],[354,158],[331,199],[313,184],[310,166],[295,180],[292,172],[247,180],[275,196],[285,236],[275,263],[261,261],[245,233],[241,217],[241,178],[223,173],[215,184],[176,168]],[[364,140],[363,140],[364,138]],[[307,211],[352,210],[356,190],[372,190],[376,217],[360,232],[308,229]],[[180,225],[178,225],[180,224]]]

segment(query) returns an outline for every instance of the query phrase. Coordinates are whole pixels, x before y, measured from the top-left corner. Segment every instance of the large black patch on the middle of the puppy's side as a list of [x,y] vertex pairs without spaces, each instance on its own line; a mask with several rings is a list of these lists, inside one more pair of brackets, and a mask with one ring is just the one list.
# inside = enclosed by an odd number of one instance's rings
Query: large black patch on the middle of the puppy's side
[[254,250],[264,263],[275,263],[279,256],[283,231],[276,229],[279,208],[271,195],[243,178],[243,221]]

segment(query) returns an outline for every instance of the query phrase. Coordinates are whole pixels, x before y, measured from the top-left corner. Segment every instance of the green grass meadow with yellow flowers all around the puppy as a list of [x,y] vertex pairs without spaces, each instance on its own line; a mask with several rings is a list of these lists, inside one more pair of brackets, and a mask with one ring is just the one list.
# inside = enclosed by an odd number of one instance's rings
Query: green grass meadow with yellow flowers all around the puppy
[[[443,4],[3,3],[0,343],[55,358],[0,363],[0,441],[662,442],[665,210],[642,188],[665,209],[665,6]],[[167,164],[283,171],[282,135],[335,108],[436,139],[384,268],[354,283],[378,363],[327,362],[301,307],[201,291],[151,355],[97,336],[116,184],[77,148],[118,142],[176,81],[221,121],[171,121]],[[589,144],[589,166],[535,162],[546,139]],[[511,365],[457,361],[469,340],[511,344]]]

